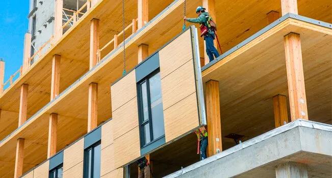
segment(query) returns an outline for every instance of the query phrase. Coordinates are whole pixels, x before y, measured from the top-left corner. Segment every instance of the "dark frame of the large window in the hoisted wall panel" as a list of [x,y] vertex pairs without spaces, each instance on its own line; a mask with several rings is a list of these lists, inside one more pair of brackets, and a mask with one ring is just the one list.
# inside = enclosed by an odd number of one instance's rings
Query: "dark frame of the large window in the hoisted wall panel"
[[[137,96],[138,96],[138,120],[139,120],[139,131],[140,131],[140,145],[141,149],[147,145],[150,145],[156,141],[158,141],[160,138],[165,136],[164,135],[154,138],[153,134],[153,128],[152,128],[152,110],[151,110],[151,99],[150,99],[150,85],[149,85],[149,79],[160,73],[160,68],[157,68],[156,70],[149,73],[146,77],[141,79],[139,82],[137,82]],[[144,111],[143,111],[143,99],[142,99],[142,83],[146,83],[146,94],[147,94],[147,108],[148,108],[148,120],[144,121]],[[149,131],[150,131],[150,142],[145,143],[145,132],[144,132],[144,126],[149,124]]]

